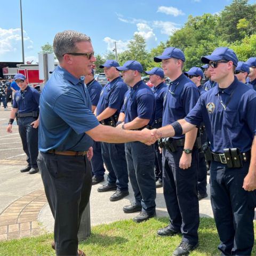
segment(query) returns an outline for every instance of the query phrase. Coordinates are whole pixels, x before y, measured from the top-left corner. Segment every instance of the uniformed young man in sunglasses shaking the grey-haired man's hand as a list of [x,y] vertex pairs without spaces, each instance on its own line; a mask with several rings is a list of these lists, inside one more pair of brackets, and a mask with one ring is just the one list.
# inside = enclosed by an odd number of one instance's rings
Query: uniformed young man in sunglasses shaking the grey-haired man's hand
[[203,94],[185,119],[159,130],[162,137],[173,136],[204,122],[211,142],[211,204],[221,242],[218,249],[222,255],[251,255],[256,93],[234,77],[237,57],[233,50],[218,47],[201,60],[209,63],[212,79],[219,86]]

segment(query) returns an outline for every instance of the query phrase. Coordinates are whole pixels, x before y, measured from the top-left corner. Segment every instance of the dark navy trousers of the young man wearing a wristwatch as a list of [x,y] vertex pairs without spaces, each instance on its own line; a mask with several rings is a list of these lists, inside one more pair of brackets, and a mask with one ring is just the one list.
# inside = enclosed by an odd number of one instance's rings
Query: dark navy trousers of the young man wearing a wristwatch
[[170,226],[181,231],[182,240],[190,244],[198,242],[199,204],[197,197],[198,150],[193,149],[191,167],[180,169],[183,147],[174,153],[163,150],[163,189]]

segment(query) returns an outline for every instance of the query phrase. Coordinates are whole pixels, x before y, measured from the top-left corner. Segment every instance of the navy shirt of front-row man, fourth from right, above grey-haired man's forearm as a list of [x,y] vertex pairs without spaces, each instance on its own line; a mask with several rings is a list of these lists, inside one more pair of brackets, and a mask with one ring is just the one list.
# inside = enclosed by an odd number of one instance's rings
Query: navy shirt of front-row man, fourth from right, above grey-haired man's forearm
[[107,107],[117,109],[116,113],[119,114],[124,103],[124,94],[127,90],[128,86],[121,77],[117,77],[106,84],[100,93],[97,116]]

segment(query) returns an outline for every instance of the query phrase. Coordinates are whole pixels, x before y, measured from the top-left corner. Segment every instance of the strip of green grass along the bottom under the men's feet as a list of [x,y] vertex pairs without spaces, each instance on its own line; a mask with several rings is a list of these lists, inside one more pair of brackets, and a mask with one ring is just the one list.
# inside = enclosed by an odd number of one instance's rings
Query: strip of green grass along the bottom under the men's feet
[[[99,225],[92,228],[92,234],[86,241],[79,243],[87,256],[167,256],[172,255],[180,243],[181,236],[158,237],[156,230],[169,223],[167,218],[150,219],[142,223],[123,220],[109,225]],[[198,230],[199,246],[190,253],[191,256],[220,255],[217,250],[219,237],[214,220],[201,218]],[[0,242],[0,255],[30,256],[55,255],[51,249],[53,234],[38,237],[14,239]],[[252,255],[256,255],[254,248]]]

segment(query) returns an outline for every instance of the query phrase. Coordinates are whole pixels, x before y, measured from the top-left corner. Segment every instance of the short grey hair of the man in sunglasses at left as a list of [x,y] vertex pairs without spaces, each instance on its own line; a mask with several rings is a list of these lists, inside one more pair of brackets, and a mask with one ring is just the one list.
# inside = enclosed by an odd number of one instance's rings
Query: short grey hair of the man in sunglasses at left
[[91,42],[91,38],[74,30],[65,30],[55,35],[53,41],[53,52],[59,61],[62,55],[69,52],[76,52],[76,43]]

